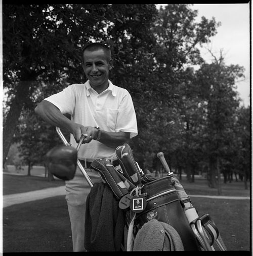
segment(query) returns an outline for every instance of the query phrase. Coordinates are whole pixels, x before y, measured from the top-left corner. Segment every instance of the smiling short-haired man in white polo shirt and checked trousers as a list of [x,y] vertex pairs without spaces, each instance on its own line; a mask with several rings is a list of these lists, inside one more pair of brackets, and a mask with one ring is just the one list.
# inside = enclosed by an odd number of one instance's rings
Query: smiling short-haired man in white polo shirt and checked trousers
[[[98,172],[90,169],[96,158],[116,159],[118,145],[138,134],[135,109],[130,93],[109,81],[113,59],[108,46],[91,43],[82,50],[82,67],[88,81],[73,84],[41,101],[35,112],[47,123],[70,133],[78,158],[93,183],[101,182]],[[70,114],[71,120],[64,114]],[[118,165],[118,163],[113,162]],[[90,186],[77,167],[75,176],[66,181],[66,200],[71,222],[73,251],[85,251],[85,204]]]

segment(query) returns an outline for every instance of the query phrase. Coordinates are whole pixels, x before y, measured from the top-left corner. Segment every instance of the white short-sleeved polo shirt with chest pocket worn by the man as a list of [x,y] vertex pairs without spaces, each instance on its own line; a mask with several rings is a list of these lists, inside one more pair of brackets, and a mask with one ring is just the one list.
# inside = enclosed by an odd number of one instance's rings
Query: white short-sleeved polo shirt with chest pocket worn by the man
[[[71,120],[84,126],[99,126],[108,132],[130,132],[130,138],[138,134],[134,104],[130,93],[109,81],[109,87],[98,94],[90,85],[73,84],[45,100],[57,106],[62,114],[70,114]],[[77,147],[71,134],[72,147]],[[82,144],[78,158],[114,158],[115,149],[92,140]]]

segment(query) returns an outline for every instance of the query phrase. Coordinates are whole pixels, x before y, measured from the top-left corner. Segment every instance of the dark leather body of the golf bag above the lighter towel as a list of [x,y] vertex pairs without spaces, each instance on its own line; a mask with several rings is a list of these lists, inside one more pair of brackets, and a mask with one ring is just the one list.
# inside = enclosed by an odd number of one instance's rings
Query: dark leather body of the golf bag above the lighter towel
[[142,226],[156,218],[170,224],[179,233],[185,250],[199,250],[171,177],[162,177],[145,184],[142,193],[147,193],[147,205],[144,211],[137,213],[137,223]]

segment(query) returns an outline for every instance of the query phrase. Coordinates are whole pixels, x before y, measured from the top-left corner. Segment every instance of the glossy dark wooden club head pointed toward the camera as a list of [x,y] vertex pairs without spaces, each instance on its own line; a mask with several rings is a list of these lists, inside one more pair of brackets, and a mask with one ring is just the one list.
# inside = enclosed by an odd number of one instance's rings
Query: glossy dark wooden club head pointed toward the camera
[[75,175],[77,150],[67,145],[54,147],[47,153],[45,162],[53,175],[63,180],[70,180]]

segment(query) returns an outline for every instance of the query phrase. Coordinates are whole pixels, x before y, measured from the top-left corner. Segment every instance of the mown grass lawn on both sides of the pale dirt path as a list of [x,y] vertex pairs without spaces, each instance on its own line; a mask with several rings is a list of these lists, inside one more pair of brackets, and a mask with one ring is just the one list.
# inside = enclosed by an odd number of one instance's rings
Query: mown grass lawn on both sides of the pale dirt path
[[[3,175],[3,194],[28,192],[64,185],[44,177]],[[181,180],[189,195],[217,195],[206,181]],[[224,196],[249,196],[242,181],[222,185]],[[228,250],[251,250],[250,200],[191,198],[199,216],[209,213]],[[70,252],[72,239],[65,196],[9,206],[3,209],[4,252]]]

